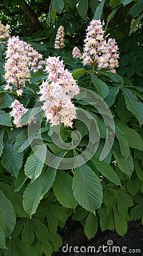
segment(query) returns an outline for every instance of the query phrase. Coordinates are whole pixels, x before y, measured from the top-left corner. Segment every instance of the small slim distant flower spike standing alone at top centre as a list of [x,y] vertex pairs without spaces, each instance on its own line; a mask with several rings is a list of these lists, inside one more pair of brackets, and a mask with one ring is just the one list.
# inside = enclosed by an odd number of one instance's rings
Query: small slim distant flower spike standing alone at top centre
[[64,27],[60,26],[57,31],[54,47],[55,49],[62,49],[64,46]]

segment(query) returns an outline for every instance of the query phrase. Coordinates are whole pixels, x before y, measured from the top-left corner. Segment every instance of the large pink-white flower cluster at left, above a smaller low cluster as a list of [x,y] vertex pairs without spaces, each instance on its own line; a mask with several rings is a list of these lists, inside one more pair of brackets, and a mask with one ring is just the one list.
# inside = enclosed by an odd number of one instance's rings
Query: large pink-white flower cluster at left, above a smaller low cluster
[[5,63],[5,79],[19,89],[31,77],[31,71],[36,72],[42,68],[44,61],[42,55],[29,44],[19,40],[18,36],[8,39]]

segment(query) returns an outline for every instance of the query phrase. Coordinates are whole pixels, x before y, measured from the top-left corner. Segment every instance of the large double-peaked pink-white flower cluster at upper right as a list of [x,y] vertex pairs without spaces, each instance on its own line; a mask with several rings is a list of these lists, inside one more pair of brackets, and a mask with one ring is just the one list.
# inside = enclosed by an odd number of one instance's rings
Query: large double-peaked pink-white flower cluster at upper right
[[106,42],[104,34],[101,20],[92,20],[86,30],[83,64],[97,65],[98,68],[109,68],[110,72],[115,73],[114,68],[118,67],[118,47],[115,39],[110,38]]

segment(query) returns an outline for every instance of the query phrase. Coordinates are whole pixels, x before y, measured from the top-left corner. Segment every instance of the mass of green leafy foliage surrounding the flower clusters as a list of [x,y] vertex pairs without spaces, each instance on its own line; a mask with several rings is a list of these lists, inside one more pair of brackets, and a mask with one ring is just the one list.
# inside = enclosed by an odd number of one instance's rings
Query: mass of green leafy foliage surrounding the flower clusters
[[[79,86],[104,98],[114,115],[115,141],[110,154],[100,162],[105,123],[92,106],[74,100],[76,106],[90,112],[98,123],[101,134],[98,150],[74,172],[42,164],[29,146],[27,127],[12,127],[8,107],[16,94],[3,90],[6,45],[0,44],[0,255],[41,256],[42,252],[51,255],[62,245],[58,226],[63,228],[70,216],[81,222],[89,239],[96,234],[98,225],[102,231],[115,229],[123,236],[128,221],[142,218],[143,224],[142,0],[3,0],[1,3],[0,19],[3,24],[10,24],[11,35],[19,35],[31,43],[44,58],[60,55]],[[105,20],[106,34],[118,42],[120,65],[115,75],[105,70],[97,70],[95,75],[91,67],[83,67],[80,60],[72,58],[74,46],[82,49],[85,29],[93,18]],[[131,27],[133,18],[136,21]],[[66,47],[55,50],[55,34],[61,24],[65,28]],[[138,30],[133,32],[136,25]],[[32,75],[31,84],[27,84],[20,98],[25,107],[30,109],[36,103],[37,86],[45,79],[44,72]],[[75,129],[76,125],[75,121]],[[48,131],[49,125],[43,121],[41,133],[46,146],[55,155],[61,154]],[[84,125],[80,132],[78,154],[89,138]],[[71,130],[62,129],[61,137],[69,142]],[[68,154],[72,156],[73,152]]]

